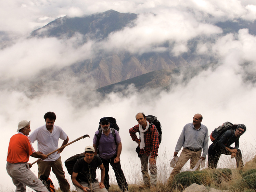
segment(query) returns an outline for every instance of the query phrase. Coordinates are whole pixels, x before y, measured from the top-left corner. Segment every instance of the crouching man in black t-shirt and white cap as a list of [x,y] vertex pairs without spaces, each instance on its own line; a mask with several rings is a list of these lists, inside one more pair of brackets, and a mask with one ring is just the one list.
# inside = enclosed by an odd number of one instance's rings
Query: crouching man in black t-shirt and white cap
[[[105,177],[105,168],[100,157],[94,156],[94,147],[85,148],[85,157],[77,159],[73,168],[72,182],[76,186],[77,192],[107,192],[103,181]],[[101,170],[101,181],[96,179],[97,168]]]

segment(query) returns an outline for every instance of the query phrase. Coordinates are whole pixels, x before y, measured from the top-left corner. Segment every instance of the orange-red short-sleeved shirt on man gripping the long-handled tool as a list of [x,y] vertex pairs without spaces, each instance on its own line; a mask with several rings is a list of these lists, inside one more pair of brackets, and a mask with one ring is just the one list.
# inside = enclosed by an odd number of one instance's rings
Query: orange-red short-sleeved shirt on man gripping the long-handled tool
[[9,163],[26,163],[29,156],[35,152],[29,137],[18,132],[10,139],[7,161]]

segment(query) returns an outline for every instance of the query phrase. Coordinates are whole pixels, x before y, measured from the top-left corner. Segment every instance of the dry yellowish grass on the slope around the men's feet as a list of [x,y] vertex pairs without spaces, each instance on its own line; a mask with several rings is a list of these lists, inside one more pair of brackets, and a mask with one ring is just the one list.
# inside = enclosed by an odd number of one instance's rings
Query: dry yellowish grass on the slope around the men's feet
[[[248,174],[248,170],[256,169],[256,156],[255,153],[253,153],[255,149],[253,149],[252,146],[251,150],[241,150],[243,151],[243,161],[244,163],[246,163],[242,171],[235,168],[235,159],[230,159],[230,156],[228,155],[221,155],[220,162],[218,163],[218,168],[227,167],[228,169],[207,169],[206,167],[204,167],[203,169],[201,168],[200,171],[190,172],[186,171],[189,169],[188,162],[181,170],[182,172],[176,175],[176,183],[174,182],[172,184],[167,184],[167,179],[172,170],[172,168],[170,168],[169,166],[170,155],[164,153],[161,157],[158,157],[157,159],[158,180],[156,187],[151,189],[139,188],[141,185],[143,185],[140,162],[133,162],[130,163],[130,165],[122,165],[122,168],[124,170],[130,192],[181,192],[192,183],[204,184],[208,190],[210,188],[215,188],[220,190],[229,190],[231,192],[256,192],[255,189],[252,189],[252,187],[250,187],[244,181],[244,176]],[[125,170],[130,171],[127,172]],[[97,175],[99,176],[100,173],[97,172]],[[109,175],[111,187],[108,192],[121,192],[116,183],[115,175],[112,168],[110,169]],[[178,180],[178,178],[180,180]],[[71,184],[71,191],[76,191],[73,184]],[[61,192],[61,190],[56,190],[56,192]]]

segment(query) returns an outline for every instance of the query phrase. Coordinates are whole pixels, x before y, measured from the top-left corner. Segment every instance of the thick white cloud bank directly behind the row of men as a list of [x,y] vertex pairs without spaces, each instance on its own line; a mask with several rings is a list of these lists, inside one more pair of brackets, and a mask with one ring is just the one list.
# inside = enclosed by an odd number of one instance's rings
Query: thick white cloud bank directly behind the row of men
[[[62,95],[54,93],[54,90],[47,94],[42,93],[41,97],[35,99],[26,97],[22,92],[1,91],[0,119],[5,122],[2,125],[5,135],[1,141],[2,152],[7,154],[8,141],[16,133],[18,121],[31,120],[33,131],[44,123],[44,113],[54,111],[57,114],[56,124],[62,126],[67,132],[70,141],[85,134],[91,136],[91,138],[86,138],[67,147],[62,153],[63,161],[71,155],[82,152],[85,145],[91,144],[101,117],[114,116],[120,127],[123,143],[121,161],[130,183],[138,182],[141,179],[140,174],[135,178],[127,170],[130,166],[135,166],[133,167],[134,172],[140,172],[140,166],[136,164],[138,157],[134,151],[136,143],[131,140],[128,133],[128,129],[137,124],[134,116],[138,112],[156,115],[161,121],[164,135],[159,150],[159,162],[162,161],[162,165],[166,164],[167,170],[163,170],[160,168],[162,166],[159,166],[159,171],[167,171],[167,173],[171,171],[168,168],[169,159],[174,152],[180,131],[186,123],[192,121],[195,113],[203,115],[202,123],[208,127],[209,131],[225,121],[245,124],[247,131],[240,139],[240,148],[243,149],[243,154],[247,153],[248,146],[255,147],[253,135],[256,134],[256,131],[253,126],[256,88],[243,82],[242,74],[237,73],[239,63],[230,64],[229,62],[231,61],[226,60],[214,71],[208,69],[194,77],[187,85],[179,85],[170,92],[162,92],[157,98],[152,98],[154,93],[149,90],[137,93],[131,87],[131,95],[120,97],[119,94],[111,93],[93,107],[88,107],[86,102],[83,103],[79,99],[71,100],[65,92]],[[73,85],[73,89],[80,89],[73,82],[71,85]],[[51,89],[51,87],[49,88]],[[78,102],[80,103],[79,107],[76,105]],[[34,146],[36,148],[36,144]],[[5,160],[6,155],[3,155],[0,161],[4,164]],[[29,162],[35,160],[30,158]],[[36,165],[34,165],[33,171],[37,174]],[[14,185],[4,167],[1,172],[3,173],[1,181],[13,189]],[[52,174],[51,178],[54,180],[55,176]],[[58,186],[56,180],[54,182]]]

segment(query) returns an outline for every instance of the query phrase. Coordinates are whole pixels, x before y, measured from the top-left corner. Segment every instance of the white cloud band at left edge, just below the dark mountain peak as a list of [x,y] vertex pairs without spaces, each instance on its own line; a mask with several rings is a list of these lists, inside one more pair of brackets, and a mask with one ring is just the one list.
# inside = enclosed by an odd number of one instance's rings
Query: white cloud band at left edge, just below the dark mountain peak
[[[2,78],[29,77],[42,69],[63,68],[90,58],[93,42],[79,45],[81,37],[69,40],[56,38],[24,39],[0,51]],[[77,47],[78,46],[78,47]]]

